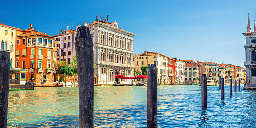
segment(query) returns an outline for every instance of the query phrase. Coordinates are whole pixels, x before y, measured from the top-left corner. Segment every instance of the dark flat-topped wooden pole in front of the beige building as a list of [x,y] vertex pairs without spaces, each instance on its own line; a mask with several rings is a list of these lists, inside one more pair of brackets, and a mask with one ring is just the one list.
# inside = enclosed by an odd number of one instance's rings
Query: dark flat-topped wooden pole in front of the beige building
[[147,67],[147,128],[157,128],[157,67]]

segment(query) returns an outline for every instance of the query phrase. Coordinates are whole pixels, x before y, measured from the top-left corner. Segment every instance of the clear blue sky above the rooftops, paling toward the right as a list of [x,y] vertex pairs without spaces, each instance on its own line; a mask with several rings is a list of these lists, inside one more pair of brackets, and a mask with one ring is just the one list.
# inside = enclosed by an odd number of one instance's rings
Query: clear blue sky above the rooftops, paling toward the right
[[[256,19],[255,0],[83,0],[2,1],[0,23],[57,35],[76,29],[96,15],[136,34],[134,55],[158,52],[180,60],[243,66],[248,13]],[[73,26],[73,27],[72,27]]]

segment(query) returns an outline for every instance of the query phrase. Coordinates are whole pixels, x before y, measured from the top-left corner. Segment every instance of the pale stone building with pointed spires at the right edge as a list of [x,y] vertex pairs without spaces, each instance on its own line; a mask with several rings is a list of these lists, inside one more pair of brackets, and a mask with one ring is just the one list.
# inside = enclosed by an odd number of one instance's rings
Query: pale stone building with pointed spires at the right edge
[[256,90],[256,27],[254,21],[254,31],[250,28],[250,14],[248,14],[247,32],[245,36],[245,62],[246,82],[244,90]]

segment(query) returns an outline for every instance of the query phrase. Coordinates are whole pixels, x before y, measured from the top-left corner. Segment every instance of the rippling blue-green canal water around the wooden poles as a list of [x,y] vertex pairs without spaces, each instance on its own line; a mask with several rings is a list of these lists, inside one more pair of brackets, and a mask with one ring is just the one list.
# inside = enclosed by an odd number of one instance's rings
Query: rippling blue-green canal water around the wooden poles
[[[201,86],[158,86],[158,127],[255,127],[256,92],[242,90],[220,100],[208,86],[208,109],[201,109]],[[95,87],[94,127],[146,127],[146,87]],[[234,89],[234,87],[233,87]],[[78,127],[78,87],[35,87],[9,91],[8,127]]]

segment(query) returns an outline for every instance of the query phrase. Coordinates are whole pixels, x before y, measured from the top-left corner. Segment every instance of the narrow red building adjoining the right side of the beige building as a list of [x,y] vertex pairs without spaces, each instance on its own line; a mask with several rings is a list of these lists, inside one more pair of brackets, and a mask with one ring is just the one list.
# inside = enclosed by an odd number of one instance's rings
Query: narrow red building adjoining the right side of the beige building
[[168,83],[175,84],[176,60],[168,58]]

